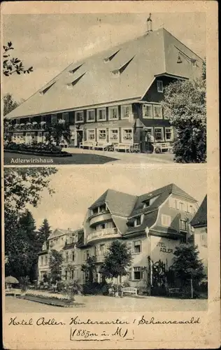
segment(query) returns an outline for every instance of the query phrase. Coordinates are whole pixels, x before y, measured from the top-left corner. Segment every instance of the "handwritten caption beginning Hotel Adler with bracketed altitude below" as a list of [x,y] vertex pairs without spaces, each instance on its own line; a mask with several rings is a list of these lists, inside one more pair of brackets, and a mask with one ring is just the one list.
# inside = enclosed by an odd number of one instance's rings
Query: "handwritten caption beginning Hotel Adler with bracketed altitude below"
[[[192,317],[189,319],[162,319],[155,317],[145,318],[139,316],[133,320],[124,320],[115,318],[113,320],[97,320],[92,318],[80,318],[74,316],[68,321],[59,321],[55,318],[40,317],[34,320],[19,319],[17,316],[10,317],[8,325],[10,326],[29,326],[37,325],[39,327],[47,326],[66,326],[69,327],[70,341],[104,341],[104,340],[134,340],[134,331],[136,328],[141,328],[144,325],[185,325],[185,324],[199,324],[199,317]],[[97,325],[97,327],[94,327]],[[110,327],[111,326],[111,327]]]

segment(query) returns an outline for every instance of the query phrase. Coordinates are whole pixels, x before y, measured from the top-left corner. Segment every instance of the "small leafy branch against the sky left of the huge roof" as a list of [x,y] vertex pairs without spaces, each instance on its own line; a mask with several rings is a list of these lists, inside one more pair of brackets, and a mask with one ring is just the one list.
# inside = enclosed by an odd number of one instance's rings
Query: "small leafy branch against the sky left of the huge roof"
[[30,66],[28,69],[24,69],[23,63],[17,57],[10,57],[10,50],[14,50],[13,44],[11,41],[8,42],[8,45],[3,45],[3,74],[5,76],[11,76],[13,73],[30,73],[33,71],[33,66]]

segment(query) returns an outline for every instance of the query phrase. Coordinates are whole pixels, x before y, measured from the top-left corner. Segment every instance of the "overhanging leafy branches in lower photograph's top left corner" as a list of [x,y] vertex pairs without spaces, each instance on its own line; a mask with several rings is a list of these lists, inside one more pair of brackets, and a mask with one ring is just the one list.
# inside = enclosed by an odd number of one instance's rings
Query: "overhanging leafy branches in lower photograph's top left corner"
[[50,176],[56,174],[54,167],[6,168],[4,169],[4,203],[21,211],[26,204],[37,207],[41,200],[41,191],[48,189],[50,195]]

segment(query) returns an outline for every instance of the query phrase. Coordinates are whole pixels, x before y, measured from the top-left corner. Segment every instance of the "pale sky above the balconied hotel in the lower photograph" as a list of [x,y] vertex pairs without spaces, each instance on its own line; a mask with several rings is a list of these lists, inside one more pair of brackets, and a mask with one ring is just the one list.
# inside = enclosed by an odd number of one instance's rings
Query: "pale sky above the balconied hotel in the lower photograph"
[[[162,186],[175,183],[201,204],[206,195],[206,169],[184,167],[163,168],[129,166],[86,166],[57,168],[51,176],[50,186],[55,194],[43,190],[37,208],[27,207],[36,221],[36,227],[47,218],[51,228],[76,230],[83,227],[87,208],[108,188],[131,195],[142,195]],[[191,179],[191,181],[190,181]]]

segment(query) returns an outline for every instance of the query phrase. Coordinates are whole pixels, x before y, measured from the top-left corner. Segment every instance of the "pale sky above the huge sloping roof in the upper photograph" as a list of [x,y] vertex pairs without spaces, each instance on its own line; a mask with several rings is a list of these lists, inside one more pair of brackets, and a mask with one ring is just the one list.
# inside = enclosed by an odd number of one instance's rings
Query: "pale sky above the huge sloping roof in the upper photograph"
[[[3,94],[27,99],[78,59],[142,35],[148,13],[3,15],[3,43],[34,72],[3,78]],[[206,56],[205,13],[152,13],[153,30],[164,27],[197,55]]]

